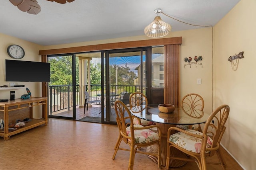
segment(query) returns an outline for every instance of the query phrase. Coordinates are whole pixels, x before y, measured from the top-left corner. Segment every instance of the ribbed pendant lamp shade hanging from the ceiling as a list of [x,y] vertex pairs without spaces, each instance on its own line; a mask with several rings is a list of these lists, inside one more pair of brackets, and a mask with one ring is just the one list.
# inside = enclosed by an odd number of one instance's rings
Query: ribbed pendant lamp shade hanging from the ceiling
[[161,20],[160,16],[156,16],[154,21],[145,27],[144,33],[148,37],[158,38],[166,36],[172,29],[172,26]]

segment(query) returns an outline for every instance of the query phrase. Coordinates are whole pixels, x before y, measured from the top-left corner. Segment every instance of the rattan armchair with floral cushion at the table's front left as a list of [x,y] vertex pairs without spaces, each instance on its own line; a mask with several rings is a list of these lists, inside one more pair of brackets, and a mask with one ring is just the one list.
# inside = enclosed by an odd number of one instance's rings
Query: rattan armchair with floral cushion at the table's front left
[[[119,129],[118,141],[115,145],[115,152],[112,156],[112,159],[115,158],[118,150],[126,150],[130,151],[129,165],[128,170],[133,169],[135,154],[142,153],[147,155],[154,155],[158,157],[158,168],[161,167],[161,131],[157,125],[151,125],[144,127],[142,125],[133,125],[133,123],[129,123],[132,121],[132,114],[130,109],[121,102],[120,100],[115,102],[115,110],[116,110],[116,122]],[[159,133],[155,133],[151,131],[149,128],[156,127],[158,128]],[[130,149],[120,148],[120,143],[124,141],[124,143],[130,146]],[[139,150],[140,147],[148,147],[151,145],[158,146],[157,153],[149,153],[142,150]]]

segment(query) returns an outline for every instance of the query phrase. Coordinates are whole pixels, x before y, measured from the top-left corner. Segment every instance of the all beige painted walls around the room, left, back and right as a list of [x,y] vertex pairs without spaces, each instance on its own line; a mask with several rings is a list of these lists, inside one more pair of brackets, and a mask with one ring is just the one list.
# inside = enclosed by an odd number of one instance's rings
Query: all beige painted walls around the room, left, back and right
[[[212,29],[199,28],[189,31],[171,32],[167,37],[182,37],[180,48],[180,97],[188,93],[198,93],[205,101],[206,112],[228,104],[230,106],[230,117],[227,122],[227,129],[224,134],[222,145],[241,164],[244,169],[256,169],[256,133],[253,125],[256,122],[256,114],[253,112],[254,96],[256,91],[253,87],[256,84],[254,67],[254,48],[256,46],[256,34],[254,28],[256,22],[255,0],[241,0],[227,16],[225,16],[214,27],[214,77],[212,84]],[[0,34],[0,50],[2,76],[0,84],[4,82],[5,70],[4,59],[9,59],[6,48],[10,44],[22,45],[26,56],[22,60],[40,61],[38,50],[58,49],[65,47],[76,47],[83,45],[95,45],[103,43],[114,43],[124,41],[136,41],[149,39],[145,35],[137,37],[123,37],[119,39],[108,39],[101,41],[90,41],[65,45],[39,46],[20,39]],[[244,59],[239,62],[238,70],[233,71],[228,57],[244,51]],[[28,55],[30,53],[30,55]],[[184,68],[184,58],[202,56],[202,66],[192,65],[191,68]],[[197,78],[202,79],[202,84],[197,84]],[[31,88],[32,94],[40,96],[37,91],[41,84],[24,83]],[[212,104],[212,86],[214,104]]]

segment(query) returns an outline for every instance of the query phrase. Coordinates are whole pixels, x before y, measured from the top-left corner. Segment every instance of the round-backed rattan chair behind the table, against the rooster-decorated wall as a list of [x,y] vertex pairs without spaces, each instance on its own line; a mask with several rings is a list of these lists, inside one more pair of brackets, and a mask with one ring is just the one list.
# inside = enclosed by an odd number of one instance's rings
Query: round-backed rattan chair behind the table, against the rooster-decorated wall
[[[202,117],[203,109],[204,109],[204,99],[199,94],[190,93],[184,96],[181,100],[181,107],[187,115],[193,118]],[[200,110],[200,112],[196,111]],[[200,124],[196,125],[177,125],[176,127],[180,127],[181,129],[193,129],[202,132]]]

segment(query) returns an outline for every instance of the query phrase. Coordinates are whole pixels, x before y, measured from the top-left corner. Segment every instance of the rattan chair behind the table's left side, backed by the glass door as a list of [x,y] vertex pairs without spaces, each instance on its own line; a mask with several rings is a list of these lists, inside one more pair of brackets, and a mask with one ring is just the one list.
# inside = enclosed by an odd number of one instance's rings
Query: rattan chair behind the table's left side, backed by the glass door
[[[147,97],[140,92],[135,92],[130,96],[130,108],[133,109],[133,113],[140,113],[141,111],[145,110],[146,107],[148,107],[148,99]],[[152,121],[147,121],[144,119],[139,119],[137,117],[133,118],[134,125],[142,125],[142,126],[148,126],[155,124]]]

